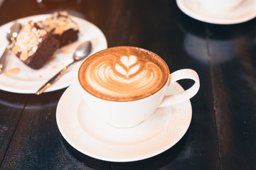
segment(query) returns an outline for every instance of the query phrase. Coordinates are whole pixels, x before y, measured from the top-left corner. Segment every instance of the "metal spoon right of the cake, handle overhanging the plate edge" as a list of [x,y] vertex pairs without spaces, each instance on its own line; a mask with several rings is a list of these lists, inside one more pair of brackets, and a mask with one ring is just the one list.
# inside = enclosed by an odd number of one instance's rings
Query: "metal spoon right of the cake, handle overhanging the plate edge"
[[46,82],[46,84],[43,84],[43,86],[41,86],[41,88],[38,89],[38,91],[36,91],[36,94],[39,95],[39,94],[42,94],[43,91],[46,91],[46,89],[48,89],[50,86],[52,86],[55,83],[55,81],[60,79],[60,77],[64,74],[65,70],[68,69],[68,67],[70,67],[71,64],[78,62],[82,59],[85,59],[85,57],[87,57],[90,54],[91,50],[92,50],[92,42],[90,42],[90,41],[82,42],[82,44],[80,44],[77,47],[77,49],[75,50],[75,52],[73,54],[73,62],[71,62],[66,67],[64,67],[62,70],[60,70],[60,72],[55,74],[55,76],[53,78],[51,78],[50,80],[48,80]]

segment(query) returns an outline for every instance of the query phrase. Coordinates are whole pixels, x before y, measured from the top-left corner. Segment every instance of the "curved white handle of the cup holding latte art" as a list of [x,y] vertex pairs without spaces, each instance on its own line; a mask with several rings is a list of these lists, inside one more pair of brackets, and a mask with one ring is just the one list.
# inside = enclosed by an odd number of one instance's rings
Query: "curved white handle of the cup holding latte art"
[[195,83],[189,89],[179,94],[164,96],[164,99],[163,101],[161,101],[161,104],[159,107],[170,106],[176,103],[181,103],[196,95],[200,87],[198,74],[193,69],[180,69],[170,74],[170,84],[181,79],[192,79],[193,81],[195,81]]

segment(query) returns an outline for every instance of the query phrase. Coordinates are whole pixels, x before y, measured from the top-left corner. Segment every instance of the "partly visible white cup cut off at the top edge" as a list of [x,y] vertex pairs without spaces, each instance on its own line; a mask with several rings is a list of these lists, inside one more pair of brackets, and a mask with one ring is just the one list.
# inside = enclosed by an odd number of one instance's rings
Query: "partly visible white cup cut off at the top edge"
[[229,13],[237,8],[243,0],[198,0],[201,7],[210,12],[216,14]]

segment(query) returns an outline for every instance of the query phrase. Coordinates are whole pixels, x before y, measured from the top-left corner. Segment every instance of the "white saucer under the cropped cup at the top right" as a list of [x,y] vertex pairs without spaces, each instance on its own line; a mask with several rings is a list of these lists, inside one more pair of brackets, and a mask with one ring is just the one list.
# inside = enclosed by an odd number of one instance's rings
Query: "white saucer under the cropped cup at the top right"
[[222,15],[208,13],[197,0],[176,0],[178,8],[199,21],[215,24],[235,24],[249,21],[256,16],[256,1],[244,0],[238,8]]

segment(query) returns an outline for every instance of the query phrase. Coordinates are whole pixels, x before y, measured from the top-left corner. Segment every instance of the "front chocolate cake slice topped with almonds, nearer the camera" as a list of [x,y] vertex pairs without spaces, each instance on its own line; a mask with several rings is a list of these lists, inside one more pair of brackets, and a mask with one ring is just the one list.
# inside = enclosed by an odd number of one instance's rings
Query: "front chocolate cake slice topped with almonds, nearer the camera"
[[41,69],[58,47],[58,40],[28,21],[18,34],[12,52],[28,67]]

